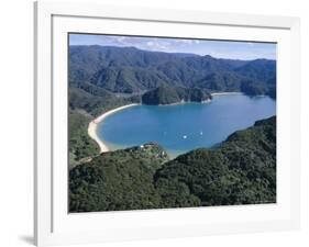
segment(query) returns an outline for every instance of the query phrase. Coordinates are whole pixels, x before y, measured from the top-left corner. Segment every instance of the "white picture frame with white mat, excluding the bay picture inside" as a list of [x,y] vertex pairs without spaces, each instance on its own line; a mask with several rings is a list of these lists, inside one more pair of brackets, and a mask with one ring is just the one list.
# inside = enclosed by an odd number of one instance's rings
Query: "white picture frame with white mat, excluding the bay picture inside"
[[[109,29],[114,29],[113,32],[103,29],[107,22],[110,24]],[[136,30],[135,26],[134,31],[132,23],[141,29]],[[158,25],[162,29],[158,29]],[[121,31],[124,26],[126,31]],[[280,44],[278,80],[282,82],[277,88],[278,202],[275,205],[233,209],[221,206],[69,215],[67,203],[64,202],[67,195],[67,167],[62,166],[67,160],[65,155],[62,155],[62,148],[67,150],[67,143],[62,142],[62,136],[67,135],[67,130],[62,128],[62,124],[66,124],[67,114],[64,111],[64,103],[67,103],[66,85],[60,83],[67,75],[63,69],[67,64],[67,58],[63,56],[66,52],[66,34],[97,30],[98,33],[137,35],[144,32],[143,34],[147,35],[158,35],[161,32],[159,35],[164,35],[170,33],[172,29],[174,36],[181,36],[180,32],[191,30],[188,35],[199,37],[201,34],[197,33],[203,29],[208,30],[208,34],[203,35],[210,37],[251,41],[266,38]],[[37,246],[299,228],[299,19],[40,1],[35,2],[34,57],[34,238]],[[209,221],[206,222],[205,218]]]

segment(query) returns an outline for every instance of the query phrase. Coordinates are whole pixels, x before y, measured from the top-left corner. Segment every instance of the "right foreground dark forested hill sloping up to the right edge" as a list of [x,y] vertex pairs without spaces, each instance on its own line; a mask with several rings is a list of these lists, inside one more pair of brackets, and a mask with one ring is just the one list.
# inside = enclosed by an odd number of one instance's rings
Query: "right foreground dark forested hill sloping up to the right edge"
[[[187,206],[176,187],[200,205],[276,202],[276,117],[232,134],[220,147],[200,148],[165,164],[155,175],[164,206]],[[180,203],[179,203],[180,202]]]

